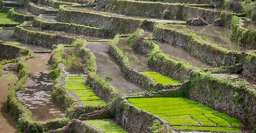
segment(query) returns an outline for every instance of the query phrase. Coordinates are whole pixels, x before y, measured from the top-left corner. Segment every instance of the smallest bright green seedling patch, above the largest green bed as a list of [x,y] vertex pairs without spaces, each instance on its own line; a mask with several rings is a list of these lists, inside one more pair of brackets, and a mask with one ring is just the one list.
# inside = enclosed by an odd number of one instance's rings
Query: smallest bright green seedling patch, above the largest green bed
[[169,78],[167,76],[161,75],[157,72],[141,72],[145,75],[148,75],[149,77],[153,78],[157,83],[159,84],[181,84],[179,81],[175,81],[172,78]]

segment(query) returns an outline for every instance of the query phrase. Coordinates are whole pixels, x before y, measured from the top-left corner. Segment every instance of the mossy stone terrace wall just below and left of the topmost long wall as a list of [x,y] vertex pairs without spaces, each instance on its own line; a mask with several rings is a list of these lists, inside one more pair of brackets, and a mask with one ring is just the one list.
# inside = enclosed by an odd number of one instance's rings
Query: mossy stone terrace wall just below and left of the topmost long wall
[[128,34],[135,32],[143,20],[124,17],[110,17],[104,14],[71,11],[62,8],[57,14],[57,20],[63,23],[75,23],[85,26],[105,28],[115,34]]

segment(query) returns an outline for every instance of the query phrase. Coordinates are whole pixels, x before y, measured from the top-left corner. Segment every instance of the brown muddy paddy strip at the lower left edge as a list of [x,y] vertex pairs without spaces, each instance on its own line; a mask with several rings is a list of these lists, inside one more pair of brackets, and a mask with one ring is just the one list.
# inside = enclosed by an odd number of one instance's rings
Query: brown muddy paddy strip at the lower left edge
[[6,112],[4,102],[7,101],[8,84],[15,85],[18,80],[16,64],[6,64],[3,67],[3,75],[0,77],[0,133],[15,133],[18,123]]

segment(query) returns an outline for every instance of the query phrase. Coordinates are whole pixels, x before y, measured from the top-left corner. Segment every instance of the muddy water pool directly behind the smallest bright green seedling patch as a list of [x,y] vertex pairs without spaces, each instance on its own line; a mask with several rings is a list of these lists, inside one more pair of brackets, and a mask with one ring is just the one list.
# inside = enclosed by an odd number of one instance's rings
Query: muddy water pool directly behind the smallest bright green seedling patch
[[130,66],[138,71],[149,71],[151,70],[147,66],[147,57],[134,51],[126,42],[125,38],[119,40],[116,46],[128,57]]

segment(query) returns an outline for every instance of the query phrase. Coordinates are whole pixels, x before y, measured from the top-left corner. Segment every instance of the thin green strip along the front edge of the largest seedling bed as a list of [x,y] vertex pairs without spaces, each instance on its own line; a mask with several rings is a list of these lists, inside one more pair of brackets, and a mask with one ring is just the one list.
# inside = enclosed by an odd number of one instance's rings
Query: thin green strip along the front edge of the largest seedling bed
[[234,127],[195,127],[195,126],[173,126],[176,130],[201,130],[201,131],[221,131],[221,132],[239,132]]

